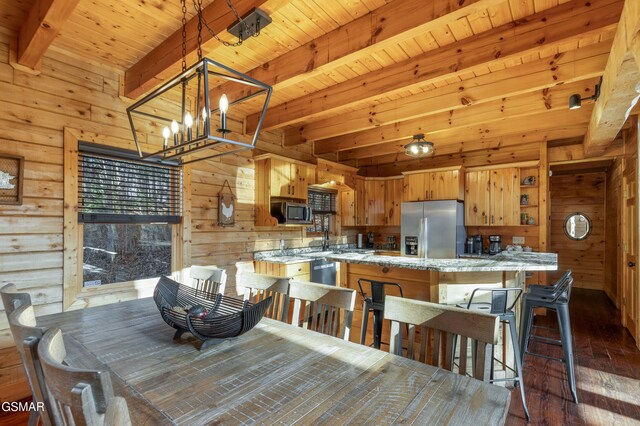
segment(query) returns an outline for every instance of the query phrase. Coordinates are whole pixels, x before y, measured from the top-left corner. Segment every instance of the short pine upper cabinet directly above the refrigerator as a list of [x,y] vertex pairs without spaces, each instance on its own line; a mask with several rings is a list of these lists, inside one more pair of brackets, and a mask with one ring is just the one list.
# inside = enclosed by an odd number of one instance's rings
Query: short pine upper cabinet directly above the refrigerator
[[403,201],[463,200],[462,167],[405,172]]

